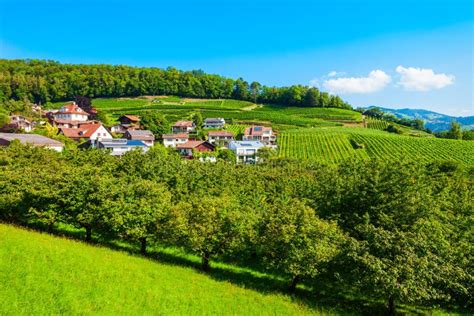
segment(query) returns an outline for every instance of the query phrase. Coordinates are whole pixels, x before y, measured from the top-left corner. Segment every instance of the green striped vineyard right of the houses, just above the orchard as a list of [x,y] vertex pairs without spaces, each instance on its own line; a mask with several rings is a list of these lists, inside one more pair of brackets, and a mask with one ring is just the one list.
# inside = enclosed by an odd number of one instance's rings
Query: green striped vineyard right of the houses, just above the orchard
[[279,156],[337,162],[381,158],[454,160],[474,164],[474,142],[416,138],[361,128],[315,128],[282,132]]

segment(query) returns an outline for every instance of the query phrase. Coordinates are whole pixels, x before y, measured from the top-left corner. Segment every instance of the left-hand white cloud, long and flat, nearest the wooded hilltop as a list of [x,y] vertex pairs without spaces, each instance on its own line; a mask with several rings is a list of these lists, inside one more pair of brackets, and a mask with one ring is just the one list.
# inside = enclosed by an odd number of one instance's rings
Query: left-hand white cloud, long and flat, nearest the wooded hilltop
[[372,70],[367,77],[329,79],[323,87],[331,93],[372,93],[383,89],[392,78],[382,70]]

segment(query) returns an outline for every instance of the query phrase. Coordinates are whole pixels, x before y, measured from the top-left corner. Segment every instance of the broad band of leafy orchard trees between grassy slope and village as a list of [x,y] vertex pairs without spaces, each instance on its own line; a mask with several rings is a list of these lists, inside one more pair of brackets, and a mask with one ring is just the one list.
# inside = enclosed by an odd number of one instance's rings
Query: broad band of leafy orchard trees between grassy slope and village
[[0,150],[0,219],[71,225],[143,254],[150,243],[182,248],[205,271],[215,259],[253,263],[290,291],[370,298],[392,314],[470,308],[472,179],[453,162],[248,166],[182,161],[162,146],[118,159],[13,144]]

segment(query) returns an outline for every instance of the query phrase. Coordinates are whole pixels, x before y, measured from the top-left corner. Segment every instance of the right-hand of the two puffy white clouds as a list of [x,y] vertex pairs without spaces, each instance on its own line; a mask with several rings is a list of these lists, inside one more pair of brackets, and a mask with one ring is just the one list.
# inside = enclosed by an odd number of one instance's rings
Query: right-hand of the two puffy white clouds
[[399,85],[410,91],[429,91],[441,89],[454,83],[454,76],[435,74],[433,69],[398,66]]

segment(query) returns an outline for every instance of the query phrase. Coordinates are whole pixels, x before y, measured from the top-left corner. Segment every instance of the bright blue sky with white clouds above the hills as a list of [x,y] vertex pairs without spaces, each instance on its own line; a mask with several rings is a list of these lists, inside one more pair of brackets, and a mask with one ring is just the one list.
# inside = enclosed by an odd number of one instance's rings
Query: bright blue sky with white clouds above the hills
[[203,69],[474,115],[470,0],[0,0],[0,57]]

